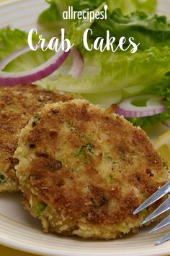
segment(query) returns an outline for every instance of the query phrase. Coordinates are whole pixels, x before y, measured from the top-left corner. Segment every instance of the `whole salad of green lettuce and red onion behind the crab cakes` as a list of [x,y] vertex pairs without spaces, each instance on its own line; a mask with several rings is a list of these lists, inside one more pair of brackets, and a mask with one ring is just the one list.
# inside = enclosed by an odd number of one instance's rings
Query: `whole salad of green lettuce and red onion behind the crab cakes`
[[[74,42],[73,51],[30,51],[27,32],[5,27],[0,30],[0,84],[36,82],[50,90],[79,93],[105,107],[116,104],[117,114],[143,129],[161,123],[170,127],[170,21],[155,14],[156,0],[47,2],[48,9],[38,17],[41,27],[48,29],[46,40],[54,31],[60,38],[64,28]],[[108,6],[107,20],[63,20],[63,12],[70,6],[76,11],[97,12],[104,4]],[[121,36],[138,40],[138,51],[86,51],[82,36],[87,28],[93,30],[91,43],[99,36],[106,40],[109,30],[117,40]],[[34,43],[37,40],[34,35]]]

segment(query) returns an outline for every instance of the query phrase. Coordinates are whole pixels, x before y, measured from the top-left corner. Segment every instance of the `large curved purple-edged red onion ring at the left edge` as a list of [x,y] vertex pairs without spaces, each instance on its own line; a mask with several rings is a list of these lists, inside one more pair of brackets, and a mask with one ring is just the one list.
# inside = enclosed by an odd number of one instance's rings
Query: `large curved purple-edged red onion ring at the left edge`
[[[15,55],[20,56],[23,53],[27,52],[27,49],[22,49],[22,51],[18,51]],[[66,61],[69,56],[70,51],[65,52],[63,50],[58,51],[55,56],[46,61],[44,64],[36,67],[35,69],[31,69],[26,72],[3,72],[0,71],[0,86],[14,86],[20,84],[29,84],[35,82],[37,80],[41,80],[44,77],[48,77],[48,75],[55,72],[56,69],[61,67],[64,61]],[[9,58],[5,59],[4,62],[1,63],[1,67],[5,67],[10,61],[14,59],[14,54],[9,56]],[[8,60],[8,62],[7,62]],[[4,65],[4,66],[3,66]]]

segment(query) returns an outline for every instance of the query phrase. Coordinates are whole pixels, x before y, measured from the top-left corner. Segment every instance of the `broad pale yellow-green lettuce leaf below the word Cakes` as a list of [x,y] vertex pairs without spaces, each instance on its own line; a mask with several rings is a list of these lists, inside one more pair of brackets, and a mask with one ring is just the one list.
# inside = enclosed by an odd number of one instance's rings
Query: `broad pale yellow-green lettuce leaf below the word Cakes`
[[150,48],[136,54],[125,52],[83,52],[84,72],[79,79],[69,75],[50,77],[43,82],[51,88],[72,93],[104,93],[122,90],[124,98],[164,80],[170,70],[170,48]]

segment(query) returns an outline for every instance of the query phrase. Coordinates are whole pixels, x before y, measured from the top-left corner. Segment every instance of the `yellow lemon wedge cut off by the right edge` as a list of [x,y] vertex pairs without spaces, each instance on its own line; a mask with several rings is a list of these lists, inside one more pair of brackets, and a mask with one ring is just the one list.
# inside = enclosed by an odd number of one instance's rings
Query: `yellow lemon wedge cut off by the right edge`
[[153,146],[161,157],[170,165],[170,131],[165,132],[164,135],[158,137],[158,139],[153,142]]

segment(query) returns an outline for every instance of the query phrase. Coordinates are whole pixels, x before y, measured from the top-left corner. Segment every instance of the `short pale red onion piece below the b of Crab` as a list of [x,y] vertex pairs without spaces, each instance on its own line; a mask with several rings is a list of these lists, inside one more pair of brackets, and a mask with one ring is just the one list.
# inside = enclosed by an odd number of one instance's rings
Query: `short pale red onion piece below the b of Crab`
[[84,69],[84,58],[81,55],[81,52],[76,48],[71,50],[71,54],[73,55],[73,64],[68,74],[71,74],[76,78],[79,77]]

